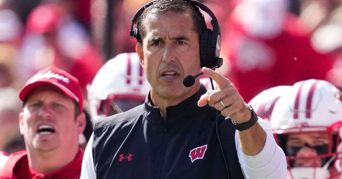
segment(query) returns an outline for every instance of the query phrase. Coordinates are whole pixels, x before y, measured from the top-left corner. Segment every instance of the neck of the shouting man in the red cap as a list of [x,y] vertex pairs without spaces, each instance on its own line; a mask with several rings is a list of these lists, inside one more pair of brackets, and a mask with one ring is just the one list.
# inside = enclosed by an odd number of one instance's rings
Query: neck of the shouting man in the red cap
[[69,163],[71,163],[78,153],[77,148],[73,147],[68,152],[63,152],[63,149],[54,151],[42,152],[37,150],[27,150],[29,165],[40,174],[49,174],[57,171]]

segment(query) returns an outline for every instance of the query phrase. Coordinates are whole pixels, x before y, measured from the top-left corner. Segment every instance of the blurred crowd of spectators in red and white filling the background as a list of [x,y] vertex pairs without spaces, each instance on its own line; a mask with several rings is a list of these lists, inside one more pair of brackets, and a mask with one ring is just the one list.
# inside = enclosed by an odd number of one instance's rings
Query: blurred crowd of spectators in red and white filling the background
[[[103,107],[100,103],[97,109],[90,107],[96,88],[112,90],[108,94],[126,90],[119,79],[109,78],[120,61],[138,61],[118,54],[135,52],[136,41],[129,38],[131,19],[148,1],[0,0],[0,150],[25,150],[18,125],[22,108],[18,91],[48,66],[79,80],[88,113]],[[342,90],[342,0],[200,2],[213,11],[221,27],[224,63],[218,71],[237,86],[246,102],[268,88],[307,79],[326,80]],[[203,14],[211,27],[210,17]],[[114,57],[114,65],[100,74],[100,68]],[[132,75],[142,75],[138,67],[139,63]],[[109,83],[117,85],[101,86]],[[137,83],[145,81],[139,78]],[[121,102],[143,101],[149,86],[142,88],[132,92],[143,93],[142,97],[123,95]],[[124,102],[121,105],[130,108]],[[94,115],[87,118],[88,123],[96,120]],[[86,128],[81,143],[89,139],[91,128]]]

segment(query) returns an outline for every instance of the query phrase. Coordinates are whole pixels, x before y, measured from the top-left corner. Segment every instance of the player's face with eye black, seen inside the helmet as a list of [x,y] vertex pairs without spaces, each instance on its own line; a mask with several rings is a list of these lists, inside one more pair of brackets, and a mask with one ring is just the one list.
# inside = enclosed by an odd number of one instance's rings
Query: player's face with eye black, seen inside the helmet
[[[287,150],[299,149],[292,152],[296,157],[316,157],[320,154],[326,154],[329,144],[327,133],[314,132],[304,134],[289,134],[287,140]],[[321,167],[322,161],[316,159],[297,159],[293,167]]]

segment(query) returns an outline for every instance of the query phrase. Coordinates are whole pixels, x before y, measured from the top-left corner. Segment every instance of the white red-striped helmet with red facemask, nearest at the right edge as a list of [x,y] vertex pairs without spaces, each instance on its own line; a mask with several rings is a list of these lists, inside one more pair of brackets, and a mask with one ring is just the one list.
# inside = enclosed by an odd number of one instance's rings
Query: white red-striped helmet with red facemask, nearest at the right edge
[[[288,178],[327,179],[341,175],[341,125],[342,93],[324,80],[305,80],[297,82],[292,89],[276,102],[271,114],[271,127],[279,146],[284,150],[288,162]],[[298,151],[304,146],[288,146],[289,134],[325,133],[329,144],[316,147],[315,156],[299,157]],[[318,148],[320,147],[320,148]],[[319,161],[321,166],[294,166],[296,161]]]

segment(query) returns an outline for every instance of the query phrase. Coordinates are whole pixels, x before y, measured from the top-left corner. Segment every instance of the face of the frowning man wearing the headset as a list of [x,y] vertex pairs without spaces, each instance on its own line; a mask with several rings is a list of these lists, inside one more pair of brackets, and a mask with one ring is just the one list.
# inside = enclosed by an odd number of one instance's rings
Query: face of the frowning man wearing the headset
[[138,52],[152,98],[186,99],[199,89],[196,79],[185,87],[183,79],[200,70],[198,34],[190,13],[159,12],[144,20],[146,36]]

